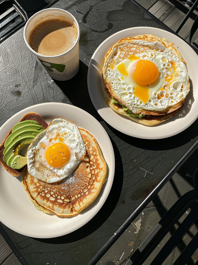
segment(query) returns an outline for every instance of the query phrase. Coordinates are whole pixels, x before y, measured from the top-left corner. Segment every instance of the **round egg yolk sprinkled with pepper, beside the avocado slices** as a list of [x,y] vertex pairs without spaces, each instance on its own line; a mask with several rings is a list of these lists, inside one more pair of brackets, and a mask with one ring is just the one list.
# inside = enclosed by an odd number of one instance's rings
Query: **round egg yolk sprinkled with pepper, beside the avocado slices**
[[70,151],[62,142],[50,145],[45,153],[47,163],[55,168],[64,166],[70,159]]

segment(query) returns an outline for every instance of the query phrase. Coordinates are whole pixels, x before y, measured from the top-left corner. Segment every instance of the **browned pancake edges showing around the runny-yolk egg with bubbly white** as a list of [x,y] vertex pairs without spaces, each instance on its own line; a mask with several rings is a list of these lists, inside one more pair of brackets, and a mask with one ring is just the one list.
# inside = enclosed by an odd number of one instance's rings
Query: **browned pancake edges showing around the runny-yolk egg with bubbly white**
[[[111,53],[111,50],[116,46],[119,45],[119,43],[123,43],[123,42],[130,42],[131,40],[144,40],[144,41],[158,41],[160,42],[162,45],[164,45],[166,47],[166,49],[169,49],[172,53],[174,53],[174,55],[176,55],[181,62],[185,63],[182,55],[179,53],[179,51],[177,49],[174,48],[174,43],[168,43],[168,41],[163,38],[160,39],[156,36],[153,35],[141,35],[141,36],[136,36],[136,37],[129,37],[129,38],[124,38],[121,39],[120,41],[118,41],[113,47],[110,48],[110,50],[106,53],[105,55],[105,61],[108,58],[109,54]],[[104,62],[105,64],[105,62]],[[107,103],[109,104],[109,106],[111,107],[111,109],[113,109],[115,112],[127,116],[128,118],[130,118],[131,120],[138,122],[140,124],[146,125],[146,126],[153,126],[153,125],[157,125],[160,124],[161,122],[165,122],[166,120],[174,117],[183,107],[186,99],[179,101],[177,104],[170,106],[162,111],[155,111],[155,110],[145,110],[145,109],[131,109],[132,113],[134,114],[142,114],[145,115],[142,118],[138,118],[138,117],[133,117],[133,116],[129,116],[127,113],[127,111],[124,111],[122,108],[122,105],[124,104],[123,102],[121,102],[115,95],[113,95],[117,101],[120,102],[120,104],[114,104],[114,100],[112,99],[112,95],[109,92],[109,83],[106,83],[104,78],[104,67],[102,69],[102,90],[104,92],[105,95],[105,99],[107,101]],[[189,82],[189,91],[190,91],[190,82]],[[122,104],[122,105],[121,105]]]

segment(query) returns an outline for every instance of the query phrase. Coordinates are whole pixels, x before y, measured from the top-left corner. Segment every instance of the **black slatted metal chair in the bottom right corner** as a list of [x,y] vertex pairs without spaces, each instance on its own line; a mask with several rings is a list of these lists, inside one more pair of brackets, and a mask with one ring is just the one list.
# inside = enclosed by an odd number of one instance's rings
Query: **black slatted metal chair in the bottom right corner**
[[[149,236],[144,240],[141,246],[132,254],[131,258],[125,265],[140,265],[149,257],[161,240],[173,228],[175,223],[183,216],[183,214],[190,208],[187,217],[179,225],[176,231],[172,234],[170,239],[166,242],[157,256],[153,259],[150,265],[162,264],[175,246],[182,240],[187,230],[193,223],[198,223],[198,189],[191,190],[184,194],[178,201],[170,208],[170,210],[161,218]],[[190,243],[182,251],[179,257],[173,263],[174,265],[188,264],[188,260],[198,248],[198,232],[192,238]],[[192,264],[192,263],[191,263]],[[196,265],[198,261],[196,262]]]

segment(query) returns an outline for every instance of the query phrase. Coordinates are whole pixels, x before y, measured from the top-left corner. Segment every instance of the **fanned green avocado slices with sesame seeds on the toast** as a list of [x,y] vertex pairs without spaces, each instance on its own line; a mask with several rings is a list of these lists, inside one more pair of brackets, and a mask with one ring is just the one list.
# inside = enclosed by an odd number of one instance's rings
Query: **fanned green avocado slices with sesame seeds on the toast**
[[[12,133],[4,143],[3,161],[13,169],[21,169],[27,164],[26,156],[20,152],[32,143],[35,137],[45,130],[36,121],[23,121],[15,124]],[[24,151],[26,151],[24,149]]]

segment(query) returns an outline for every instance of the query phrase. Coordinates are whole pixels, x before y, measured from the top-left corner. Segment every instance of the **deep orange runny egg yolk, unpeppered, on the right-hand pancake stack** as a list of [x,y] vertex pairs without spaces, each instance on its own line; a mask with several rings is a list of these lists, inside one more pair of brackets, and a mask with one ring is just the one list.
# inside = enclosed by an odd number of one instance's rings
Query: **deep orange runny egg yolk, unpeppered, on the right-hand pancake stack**
[[133,80],[140,86],[153,84],[158,78],[157,66],[149,60],[139,60],[133,73]]

